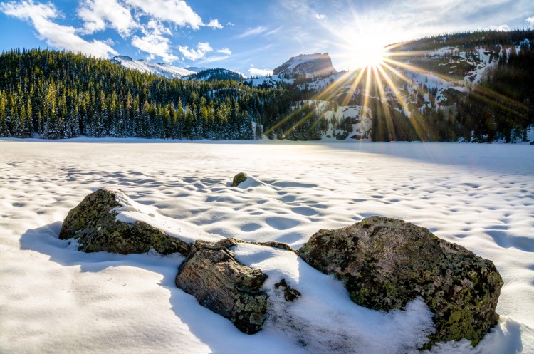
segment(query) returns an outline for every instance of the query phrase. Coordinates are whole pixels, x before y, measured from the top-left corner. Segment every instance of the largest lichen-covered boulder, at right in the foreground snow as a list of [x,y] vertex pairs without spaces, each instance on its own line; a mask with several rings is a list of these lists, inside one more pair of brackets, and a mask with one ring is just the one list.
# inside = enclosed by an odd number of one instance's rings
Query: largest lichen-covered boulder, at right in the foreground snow
[[503,281],[493,262],[399,219],[320,230],[298,254],[340,278],[361,306],[389,311],[422,296],[436,326],[423,348],[462,338],[476,345],[498,319]]

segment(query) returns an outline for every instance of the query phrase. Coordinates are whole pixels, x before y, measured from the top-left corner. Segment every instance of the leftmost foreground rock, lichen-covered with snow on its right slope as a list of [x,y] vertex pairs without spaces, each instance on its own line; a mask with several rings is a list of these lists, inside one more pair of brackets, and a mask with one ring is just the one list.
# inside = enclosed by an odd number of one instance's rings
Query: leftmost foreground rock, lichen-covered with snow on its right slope
[[160,254],[189,253],[189,244],[146,222],[117,221],[118,212],[114,209],[121,206],[115,198],[117,193],[122,192],[100,189],[85,197],[68,213],[59,238],[76,239],[80,251],[85,252],[132,254],[152,248]]

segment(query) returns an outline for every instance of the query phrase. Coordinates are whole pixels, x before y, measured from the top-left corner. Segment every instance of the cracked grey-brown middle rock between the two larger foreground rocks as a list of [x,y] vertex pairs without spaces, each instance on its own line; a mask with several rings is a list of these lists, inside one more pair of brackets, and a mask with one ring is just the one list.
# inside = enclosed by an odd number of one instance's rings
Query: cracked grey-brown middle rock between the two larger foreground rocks
[[229,247],[238,242],[195,241],[179,267],[176,285],[241,332],[253,334],[261,330],[266,317],[268,295],[261,286],[267,276],[236,261]]

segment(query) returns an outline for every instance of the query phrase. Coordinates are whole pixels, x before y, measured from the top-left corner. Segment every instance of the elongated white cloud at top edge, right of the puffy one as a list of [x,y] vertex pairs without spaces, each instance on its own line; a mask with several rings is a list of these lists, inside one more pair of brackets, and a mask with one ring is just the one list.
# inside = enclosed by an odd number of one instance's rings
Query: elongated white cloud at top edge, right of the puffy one
[[200,16],[182,0],[125,0],[148,16],[160,21],[169,21],[178,26],[199,29],[204,25]]

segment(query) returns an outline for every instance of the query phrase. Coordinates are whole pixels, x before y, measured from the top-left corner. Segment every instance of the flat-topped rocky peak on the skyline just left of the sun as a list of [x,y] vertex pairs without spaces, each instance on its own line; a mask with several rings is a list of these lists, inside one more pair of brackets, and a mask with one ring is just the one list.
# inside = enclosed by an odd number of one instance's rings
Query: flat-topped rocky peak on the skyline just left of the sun
[[286,63],[275,68],[273,75],[325,76],[336,72],[328,53],[315,53],[291,57]]

